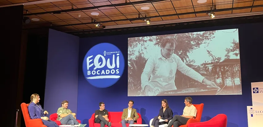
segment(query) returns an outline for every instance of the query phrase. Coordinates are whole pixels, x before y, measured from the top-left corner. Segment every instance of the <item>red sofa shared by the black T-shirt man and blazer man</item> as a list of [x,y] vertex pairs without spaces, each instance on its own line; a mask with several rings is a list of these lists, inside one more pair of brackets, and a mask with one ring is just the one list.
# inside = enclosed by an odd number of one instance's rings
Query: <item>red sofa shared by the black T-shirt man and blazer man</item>
[[[111,122],[111,127],[122,127],[121,121],[122,121],[122,113],[123,112],[108,112],[109,116],[109,121]],[[141,124],[142,123],[142,119],[141,119],[141,115],[140,113],[138,113],[139,118],[137,119],[137,121],[134,124]],[[100,127],[100,124],[95,123],[95,113],[92,114],[91,118],[88,120],[88,124],[89,127]],[[128,127],[129,124],[126,124],[126,126]],[[105,125],[105,127],[108,127],[107,125]]]

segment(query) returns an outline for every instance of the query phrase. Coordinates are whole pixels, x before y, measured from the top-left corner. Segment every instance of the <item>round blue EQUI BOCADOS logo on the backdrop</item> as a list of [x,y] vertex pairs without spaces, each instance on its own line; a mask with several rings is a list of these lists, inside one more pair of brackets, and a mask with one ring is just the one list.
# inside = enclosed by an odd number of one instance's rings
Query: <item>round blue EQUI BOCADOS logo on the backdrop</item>
[[85,55],[82,70],[91,85],[98,88],[109,87],[115,84],[123,74],[123,54],[113,44],[97,44]]

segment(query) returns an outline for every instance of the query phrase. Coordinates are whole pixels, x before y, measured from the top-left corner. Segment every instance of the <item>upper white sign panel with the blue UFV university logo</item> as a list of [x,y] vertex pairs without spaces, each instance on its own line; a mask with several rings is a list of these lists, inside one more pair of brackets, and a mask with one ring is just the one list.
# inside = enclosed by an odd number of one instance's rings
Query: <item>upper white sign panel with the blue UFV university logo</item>
[[252,93],[252,105],[263,106],[263,82],[252,82],[251,83]]

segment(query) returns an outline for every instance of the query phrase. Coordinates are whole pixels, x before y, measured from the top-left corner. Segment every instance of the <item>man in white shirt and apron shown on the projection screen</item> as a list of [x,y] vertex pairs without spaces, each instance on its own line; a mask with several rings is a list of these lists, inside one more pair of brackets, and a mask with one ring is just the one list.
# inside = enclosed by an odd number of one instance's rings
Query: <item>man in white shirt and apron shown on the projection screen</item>
[[149,96],[150,93],[153,93],[154,88],[160,88],[160,92],[177,90],[175,86],[175,73],[177,69],[200,83],[217,87],[214,82],[205,79],[198,72],[189,68],[179,56],[174,54],[175,44],[173,37],[163,38],[160,44],[160,53],[150,56],[147,60],[141,74],[141,86],[144,94]]

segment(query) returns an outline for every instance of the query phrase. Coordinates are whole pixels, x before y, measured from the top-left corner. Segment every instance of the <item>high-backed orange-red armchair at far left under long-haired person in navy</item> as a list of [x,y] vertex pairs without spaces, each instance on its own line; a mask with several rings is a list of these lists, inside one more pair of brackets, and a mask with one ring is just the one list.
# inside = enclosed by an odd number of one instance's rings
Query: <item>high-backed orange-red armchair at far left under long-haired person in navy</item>
[[28,114],[28,104],[21,104],[22,113],[24,116],[26,127],[47,127],[43,124],[41,119],[31,119]]

